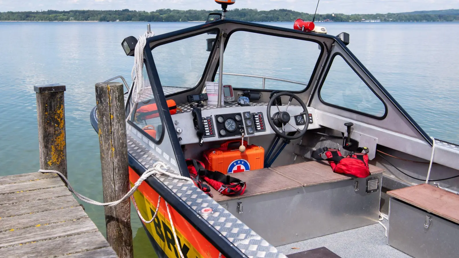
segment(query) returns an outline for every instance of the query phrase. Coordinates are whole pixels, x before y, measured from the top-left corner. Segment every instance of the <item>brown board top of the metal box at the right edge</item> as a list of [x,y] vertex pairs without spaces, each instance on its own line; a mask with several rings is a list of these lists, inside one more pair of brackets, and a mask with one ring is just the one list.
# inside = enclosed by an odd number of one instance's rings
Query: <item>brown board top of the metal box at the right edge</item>
[[392,190],[387,194],[459,224],[459,195],[428,184]]

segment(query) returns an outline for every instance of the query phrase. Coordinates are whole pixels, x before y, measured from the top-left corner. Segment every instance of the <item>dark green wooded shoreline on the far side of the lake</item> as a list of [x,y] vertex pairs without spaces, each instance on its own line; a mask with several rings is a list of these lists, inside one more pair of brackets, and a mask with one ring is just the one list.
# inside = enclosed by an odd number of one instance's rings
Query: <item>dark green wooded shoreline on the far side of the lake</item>
[[[448,12],[446,12],[448,11]],[[71,11],[7,11],[0,12],[0,21],[98,21],[98,22],[189,22],[205,21],[210,12],[221,10],[71,10]],[[248,22],[293,22],[297,18],[311,21],[313,14],[286,9],[257,11],[257,9],[233,9],[227,12],[230,19]],[[317,14],[316,21],[360,22],[365,19],[381,22],[453,22],[459,21],[459,10],[425,11],[422,13],[386,14]]]

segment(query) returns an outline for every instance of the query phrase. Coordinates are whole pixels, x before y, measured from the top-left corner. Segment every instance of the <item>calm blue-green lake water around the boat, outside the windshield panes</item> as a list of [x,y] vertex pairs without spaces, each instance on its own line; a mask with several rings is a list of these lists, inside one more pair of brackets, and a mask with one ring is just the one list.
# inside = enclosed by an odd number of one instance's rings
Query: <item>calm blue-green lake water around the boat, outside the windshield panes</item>
[[[162,34],[194,25],[157,22],[151,27]],[[459,143],[459,23],[317,25],[332,35],[349,33],[349,49],[414,120],[431,136]],[[116,75],[130,84],[133,58],[125,56],[120,43],[145,30],[143,22],[0,22],[0,176],[39,169],[33,86],[62,83],[67,86],[69,180],[81,194],[102,201],[99,144],[89,119],[94,84]],[[103,208],[84,206],[105,232]],[[135,256],[150,256],[154,251],[135,211],[132,218]]]

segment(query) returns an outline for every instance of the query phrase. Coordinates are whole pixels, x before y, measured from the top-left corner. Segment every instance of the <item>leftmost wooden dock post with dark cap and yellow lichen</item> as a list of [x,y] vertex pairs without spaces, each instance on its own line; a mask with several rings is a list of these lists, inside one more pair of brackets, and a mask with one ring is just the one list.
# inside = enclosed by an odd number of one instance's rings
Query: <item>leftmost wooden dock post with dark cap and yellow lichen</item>
[[34,86],[37,96],[40,169],[57,170],[67,177],[65,141],[65,85]]

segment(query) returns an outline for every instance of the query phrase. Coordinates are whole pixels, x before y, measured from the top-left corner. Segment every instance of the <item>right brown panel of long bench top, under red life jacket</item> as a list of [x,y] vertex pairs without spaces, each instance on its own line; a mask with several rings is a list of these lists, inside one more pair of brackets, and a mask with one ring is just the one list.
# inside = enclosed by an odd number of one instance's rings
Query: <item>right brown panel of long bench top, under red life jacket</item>
[[[303,186],[319,185],[356,178],[351,175],[335,173],[331,170],[328,162],[319,161],[307,161],[270,169],[301,183]],[[373,165],[369,165],[369,169],[372,175],[382,173],[385,170],[384,168],[378,168]]]

